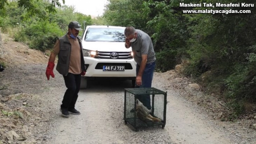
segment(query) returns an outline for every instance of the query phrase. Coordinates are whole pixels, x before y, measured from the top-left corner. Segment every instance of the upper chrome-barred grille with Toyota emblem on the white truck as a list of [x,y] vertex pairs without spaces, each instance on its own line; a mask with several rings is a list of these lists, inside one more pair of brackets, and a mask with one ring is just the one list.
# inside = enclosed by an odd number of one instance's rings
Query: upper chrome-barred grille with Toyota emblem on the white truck
[[97,52],[95,58],[100,59],[132,59],[132,52]]

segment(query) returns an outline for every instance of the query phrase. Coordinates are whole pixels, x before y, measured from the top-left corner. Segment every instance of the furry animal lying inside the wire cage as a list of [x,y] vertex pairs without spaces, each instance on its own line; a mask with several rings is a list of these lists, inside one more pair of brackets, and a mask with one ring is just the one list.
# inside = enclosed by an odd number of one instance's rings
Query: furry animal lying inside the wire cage
[[161,122],[162,120],[159,118],[155,118],[150,114],[151,110],[147,109],[142,102],[136,99],[136,117],[141,121],[153,121],[153,122]]

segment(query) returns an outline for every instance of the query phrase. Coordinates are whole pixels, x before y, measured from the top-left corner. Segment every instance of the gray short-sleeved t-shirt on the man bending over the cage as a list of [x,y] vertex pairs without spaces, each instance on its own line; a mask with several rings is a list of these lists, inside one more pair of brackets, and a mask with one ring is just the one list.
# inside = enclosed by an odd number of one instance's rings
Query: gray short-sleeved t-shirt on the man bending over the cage
[[148,54],[147,64],[150,64],[156,60],[155,52],[152,44],[152,40],[148,34],[141,30],[137,31],[137,39],[135,42],[131,42],[132,51],[134,54],[134,60],[138,65],[141,64],[142,54]]

